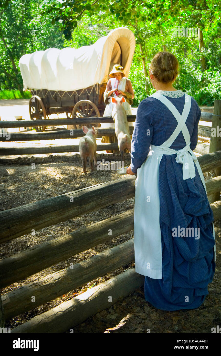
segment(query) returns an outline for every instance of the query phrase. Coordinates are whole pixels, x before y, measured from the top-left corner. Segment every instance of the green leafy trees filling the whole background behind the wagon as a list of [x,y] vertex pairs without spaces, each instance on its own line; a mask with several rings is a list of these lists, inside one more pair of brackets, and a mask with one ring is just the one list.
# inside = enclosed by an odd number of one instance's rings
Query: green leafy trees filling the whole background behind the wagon
[[[0,0],[0,10],[2,88],[18,88],[18,78],[21,85],[10,54],[18,68],[24,53],[91,45],[113,28],[126,26],[136,38],[129,75],[135,105],[155,91],[148,69],[159,51],[178,58],[177,89],[201,105],[221,99],[221,3],[217,0]],[[175,36],[179,27],[180,35]],[[182,27],[199,29],[199,37],[182,36]]]

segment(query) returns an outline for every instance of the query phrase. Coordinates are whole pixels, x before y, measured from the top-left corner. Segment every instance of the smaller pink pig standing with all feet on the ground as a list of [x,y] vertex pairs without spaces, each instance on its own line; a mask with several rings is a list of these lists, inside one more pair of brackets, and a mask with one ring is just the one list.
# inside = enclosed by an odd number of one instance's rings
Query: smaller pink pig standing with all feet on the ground
[[90,171],[94,171],[93,167],[93,158],[94,164],[97,164],[97,144],[96,144],[96,137],[98,135],[98,130],[92,126],[92,129],[89,130],[88,127],[82,126],[82,130],[86,135],[80,138],[79,142],[79,152],[80,158],[83,165],[83,173],[86,174],[86,159],[89,156],[90,158]]

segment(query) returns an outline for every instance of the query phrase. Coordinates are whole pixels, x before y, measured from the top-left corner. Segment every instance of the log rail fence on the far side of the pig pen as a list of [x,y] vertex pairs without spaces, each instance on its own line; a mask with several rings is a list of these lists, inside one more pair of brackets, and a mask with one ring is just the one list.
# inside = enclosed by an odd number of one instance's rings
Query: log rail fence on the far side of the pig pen
[[[218,101],[218,100],[217,100]],[[214,106],[214,112],[217,111]],[[206,122],[212,122],[213,114],[210,112],[201,112],[200,120]],[[128,122],[133,122],[136,119],[136,115],[128,115]],[[10,127],[33,127],[35,123],[36,126],[42,125],[42,120],[28,120],[28,121],[0,121],[0,128],[10,128]],[[110,123],[112,117],[89,117],[81,119],[50,119],[48,124],[50,126],[60,126],[60,125],[88,125],[88,124],[100,124],[100,123]],[[212,127],[214,127],[212,125]],[[130,134],[133,133],[133,126],[130,126]],[[210,126],[198,126],[198,135],[205,138],[211,137],[211,127]],[[61,130],[61,131],[52,131],[52,132],[23,132],[23,133],[10,133],[10,137],[5,137],[0,135],[0,141],[41,141],[41,140],[56,140],[60,138],[80,138],[83,137],[84,133],[82,129],[75,130]],[[100,129],[98,128],[98,137],[101,136],[115,136],[114,129]],[[198,152],[202,155],[209,153],[209,143],[198,142],[198,145],[195,148],[195,152]],[[105,150],[118,150],[118,145],[116,143],[106,143],[97,145],[97,151]],[[215,149],[217,150],[217,149]],[[42,146],[42,147],[24,147],[24,148],[0,148],[0,155],[35,155],[43,153],[63,153],[63,152],[79,152],[78,145],[67,145],[67,146]],[[210,151],[212,152],[212,151]]]

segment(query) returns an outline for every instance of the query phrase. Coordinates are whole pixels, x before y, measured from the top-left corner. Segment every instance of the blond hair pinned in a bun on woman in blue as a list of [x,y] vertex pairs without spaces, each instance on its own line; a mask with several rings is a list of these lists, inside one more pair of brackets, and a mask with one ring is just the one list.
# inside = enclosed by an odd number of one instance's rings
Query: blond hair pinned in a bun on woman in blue
[[151,74],[161,83],[169,83],[178,75],[179,62],[170,52],[158,52],[150,65]]

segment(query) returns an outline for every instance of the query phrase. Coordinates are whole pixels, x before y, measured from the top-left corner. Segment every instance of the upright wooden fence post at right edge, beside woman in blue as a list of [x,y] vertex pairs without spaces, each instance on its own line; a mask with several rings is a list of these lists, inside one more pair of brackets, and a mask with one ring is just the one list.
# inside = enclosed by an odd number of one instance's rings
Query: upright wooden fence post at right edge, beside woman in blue
[[[212,135],[212,128],[215,128],[215,135]],[[210,137],[210,148],[209,153],[221,150],[221,100],[214,101],[214,109],[212,114],[212,127],[211,127],[211,137]],[[221,167],[211,170],[212,178],[221,176]],[[220,200],[220,193],[214,193],[209,195],[208,200],[211,203]]]

